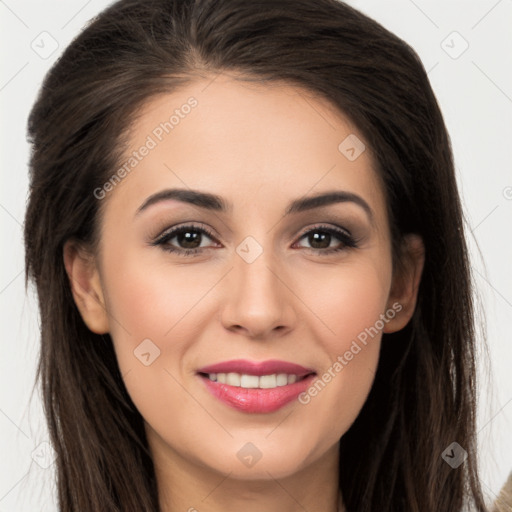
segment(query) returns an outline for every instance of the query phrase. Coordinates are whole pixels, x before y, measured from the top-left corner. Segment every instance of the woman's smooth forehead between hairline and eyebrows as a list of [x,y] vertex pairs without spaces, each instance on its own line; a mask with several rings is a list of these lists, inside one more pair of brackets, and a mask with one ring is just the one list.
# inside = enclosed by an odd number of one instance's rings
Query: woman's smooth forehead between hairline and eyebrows
[[362,135],[327,100],[287,83],[221,74],[151,98],[130,128],[121,166],[109,202],[130,209],[174,187],[246,210],[343,188],[384,208]]

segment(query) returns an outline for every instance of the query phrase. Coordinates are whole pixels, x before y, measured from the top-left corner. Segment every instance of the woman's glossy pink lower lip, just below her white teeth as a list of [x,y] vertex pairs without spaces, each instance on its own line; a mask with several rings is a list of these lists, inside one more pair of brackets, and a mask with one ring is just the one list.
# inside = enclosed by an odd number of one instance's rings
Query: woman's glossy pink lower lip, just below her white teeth
[[226,405],[242,412],[262,414],[277,411],[295,400],[310,386],[315,375],[311,374],[293,384],[272,389],[241,388],[200,377],[208,391]]

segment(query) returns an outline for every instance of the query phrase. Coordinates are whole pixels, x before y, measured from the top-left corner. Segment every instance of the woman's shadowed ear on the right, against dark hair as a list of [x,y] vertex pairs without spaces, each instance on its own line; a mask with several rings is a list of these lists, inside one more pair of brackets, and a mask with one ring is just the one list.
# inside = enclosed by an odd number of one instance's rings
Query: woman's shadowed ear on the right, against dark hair
[[383,332],[396,332],[403,329],[414,313],[425,263],[425,247],[422,238],[414,234],[406,235],[401,255],[402,262],[393,274],[388,299],[388,309],[394,309],[397,314],[385,324]]

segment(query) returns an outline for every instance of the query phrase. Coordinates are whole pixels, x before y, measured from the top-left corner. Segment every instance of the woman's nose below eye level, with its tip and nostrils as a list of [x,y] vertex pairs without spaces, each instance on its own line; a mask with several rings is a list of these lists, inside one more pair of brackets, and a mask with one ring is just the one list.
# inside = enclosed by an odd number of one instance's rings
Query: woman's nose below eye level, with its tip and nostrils
[[291,331],[296,322],[293,294],[284,276],[272,269],[272,262],[261,255],[247,263],[237,255],[225,283],[223,326],[254,339],[270,339]]

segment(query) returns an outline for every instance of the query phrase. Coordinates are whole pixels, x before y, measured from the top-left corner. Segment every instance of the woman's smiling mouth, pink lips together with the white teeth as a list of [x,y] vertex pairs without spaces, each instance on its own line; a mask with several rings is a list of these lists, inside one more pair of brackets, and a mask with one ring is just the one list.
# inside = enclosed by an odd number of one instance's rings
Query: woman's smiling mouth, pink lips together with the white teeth
[[316,372],[286,361],[226,361],[201,368],[206,389],[225,405],[245,413],[281,409],[305,391]]

